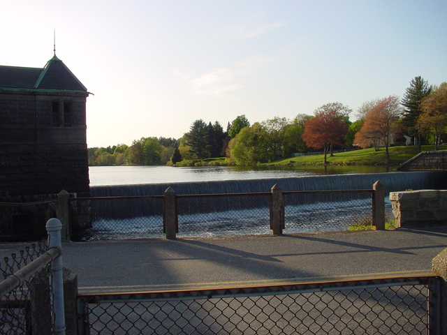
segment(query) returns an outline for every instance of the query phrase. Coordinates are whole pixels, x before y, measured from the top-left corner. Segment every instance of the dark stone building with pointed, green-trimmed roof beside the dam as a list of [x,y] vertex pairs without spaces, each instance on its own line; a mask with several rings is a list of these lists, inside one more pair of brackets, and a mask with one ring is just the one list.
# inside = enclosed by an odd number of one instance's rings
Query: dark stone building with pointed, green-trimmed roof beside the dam
[[44,68],[0,66],[0,202],[89,195],[87,96],[55,54]]

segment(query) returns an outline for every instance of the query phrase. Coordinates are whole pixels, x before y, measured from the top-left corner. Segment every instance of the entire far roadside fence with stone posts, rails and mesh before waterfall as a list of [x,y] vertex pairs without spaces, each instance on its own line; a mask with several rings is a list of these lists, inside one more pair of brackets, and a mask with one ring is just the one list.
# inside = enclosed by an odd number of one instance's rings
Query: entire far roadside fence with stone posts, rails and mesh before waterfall
[[[96,198],[69,198],[62,191],[57,202],[3,204],[0,211],[26,209],[11,217],[23,216],[24,223],[15,229],[25,239],[34,234],[34,240],[41,238],[41,224],[27,230],[26,219],[35,215],[35,221],[43,212],[57,214],[63,239],[74,241],[343,231],[356,224],[384,229],[377,219],[385,215],[384,195],[374,188],[376,184],[370,190],[283,192],[275,185],[272,192],[191,195],[175,195],[168,188],[164,195]],[[376,203],[378,199],[382,204]],[[43,204],[45,209],[33,207]],[[6,229],[8,223],[2,221],[0,226]]]

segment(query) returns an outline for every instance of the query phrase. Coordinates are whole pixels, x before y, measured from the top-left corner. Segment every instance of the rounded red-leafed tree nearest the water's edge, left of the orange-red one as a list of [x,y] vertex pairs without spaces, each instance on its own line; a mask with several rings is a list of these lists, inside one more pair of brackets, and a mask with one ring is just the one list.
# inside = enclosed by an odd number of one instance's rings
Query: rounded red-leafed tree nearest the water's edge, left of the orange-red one
[[324,165],[327,164],[328,151],[332,154],[332,146],[344,144],[344,136],[348,133],[350,112],[351,110],[341,103],[328,103],[319,107],[314,117],[305,123],[302,139],[308,147],[323,148]]

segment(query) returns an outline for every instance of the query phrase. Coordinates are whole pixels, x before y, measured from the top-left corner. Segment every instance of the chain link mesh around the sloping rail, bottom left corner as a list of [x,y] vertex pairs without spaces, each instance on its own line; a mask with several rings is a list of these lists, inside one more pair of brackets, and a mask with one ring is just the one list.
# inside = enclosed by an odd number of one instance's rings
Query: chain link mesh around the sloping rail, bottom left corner
[[[26,246],[19,253],[4,256],[0,261],[1,279],[12,276],[46,253],[44,242]],[[50,263],[37,271],[0,300],[1,334],[53,334],[50,301]],[[38,304],[36,302],[38,301]],[[48,308],[41,308],[48,306]]]

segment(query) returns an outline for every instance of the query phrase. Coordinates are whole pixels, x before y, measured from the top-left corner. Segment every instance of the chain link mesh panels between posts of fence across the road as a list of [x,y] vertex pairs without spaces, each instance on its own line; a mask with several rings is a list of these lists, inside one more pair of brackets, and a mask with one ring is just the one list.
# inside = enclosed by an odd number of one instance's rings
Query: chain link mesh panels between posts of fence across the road
[[[284,233],[372,225],[372,190],[284,192]],[[71,239],[165,237],[161,196],[70,198]],[[177,237],[270,234],[272,193],[176,195]],[[57,216],[56,200],[0,204],[0,239],[36,241]]]

